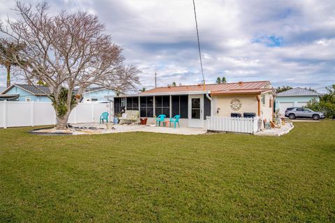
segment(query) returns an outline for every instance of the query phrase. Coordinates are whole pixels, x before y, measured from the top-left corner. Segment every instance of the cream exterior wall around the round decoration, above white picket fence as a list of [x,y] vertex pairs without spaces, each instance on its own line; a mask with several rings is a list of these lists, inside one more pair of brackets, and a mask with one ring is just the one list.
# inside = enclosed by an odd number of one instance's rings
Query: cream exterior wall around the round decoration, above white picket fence
[[[256,95],[213,95],[214,103],[214,116],[227,116],[230,117],[231,113],[253,112],[257,116],[258,101]],[[230,102],[237,98],[241,100],[241,108],[234,111],[230,107]]]

